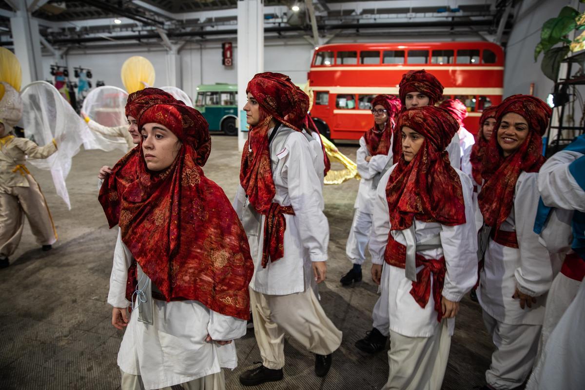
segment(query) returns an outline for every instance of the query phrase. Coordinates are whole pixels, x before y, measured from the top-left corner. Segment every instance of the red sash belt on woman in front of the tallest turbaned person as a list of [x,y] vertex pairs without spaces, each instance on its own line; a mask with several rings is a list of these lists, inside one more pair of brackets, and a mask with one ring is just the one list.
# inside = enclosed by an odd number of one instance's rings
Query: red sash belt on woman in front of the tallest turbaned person
[[[394,267],[405,268],[406,264],[406,246],[394,240],[392,233],[388,233],[388,244],[386,251],[384,251],[384,261]],[[433,299],[435,300],[435,311],[438,322],[443,318],[443,309],[441,307],[441,299],[443,292],[443,284],[445,284],[445,257],[441,258],[425,258],[417,253],[416,255],[417,267],[423,266],[422,270],[417,274],[417,281],[412,282],[412,289],[410,295],[418,303],[421,308],[425,308],[429,302],[431,295],[431,278]]]

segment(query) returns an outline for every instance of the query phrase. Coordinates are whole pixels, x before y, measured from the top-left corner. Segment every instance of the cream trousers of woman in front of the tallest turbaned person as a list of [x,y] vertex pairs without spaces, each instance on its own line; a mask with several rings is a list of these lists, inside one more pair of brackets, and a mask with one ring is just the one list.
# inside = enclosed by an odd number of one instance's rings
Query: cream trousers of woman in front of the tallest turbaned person
[[382,390],[441,390],[449,360],[447,322],[431,337],[407,337],[390,330],[388,382]]

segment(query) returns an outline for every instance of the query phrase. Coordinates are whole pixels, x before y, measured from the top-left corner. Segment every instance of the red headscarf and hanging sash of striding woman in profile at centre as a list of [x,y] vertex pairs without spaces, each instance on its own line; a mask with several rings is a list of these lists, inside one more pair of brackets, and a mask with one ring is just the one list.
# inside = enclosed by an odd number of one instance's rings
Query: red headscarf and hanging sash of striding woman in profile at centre
[[271,72],[254,75],[246,88],[246,93],[252,94],[260,106],[260,121],[250,128],[244,145],[240,184],[253,208],[266,215],[263,267],[266,267],[269,258],[276,261],[284,256],[286,229],[283,208],[272,202],[276,189],[272,178],[268,130],[274,119],[293,130],[301,131],[298,126],[307,116],[309,106],[308,99],[298,94],[297,89],[287,75]]

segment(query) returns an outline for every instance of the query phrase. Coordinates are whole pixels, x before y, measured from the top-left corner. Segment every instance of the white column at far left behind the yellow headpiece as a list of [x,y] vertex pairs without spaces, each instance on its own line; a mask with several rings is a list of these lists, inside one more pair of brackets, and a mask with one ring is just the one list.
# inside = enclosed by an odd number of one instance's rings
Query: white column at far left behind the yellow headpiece
[[22,67],[22,85],[43,80],[43,61],[40,50],[39,23],[30,17],[26,1],[15,1],[16,16],[10,18],[14,53]]

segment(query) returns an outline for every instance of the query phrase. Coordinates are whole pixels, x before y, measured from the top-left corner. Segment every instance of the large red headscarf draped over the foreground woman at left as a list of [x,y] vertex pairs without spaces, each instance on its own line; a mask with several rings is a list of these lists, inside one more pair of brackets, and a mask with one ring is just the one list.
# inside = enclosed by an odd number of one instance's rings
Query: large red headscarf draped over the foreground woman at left
[[[167,302],[192,299],[223,315],[248,318],[254,265],[229,199],[201,168],[211,150],[207,122],[174,99],[146,106],[137,119],[140,128],[167,127],[181,147],[163,171],[147,168],[142,147],[116,164],[113,175],[128,174],[130,183],[122,192],[113,180],[102,186],[99,200],[106,216],[114,217],[109,225],[119,222],[122,241]],[[131,275],[129,270],[129,284],[135,282]]]

